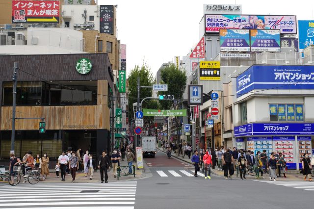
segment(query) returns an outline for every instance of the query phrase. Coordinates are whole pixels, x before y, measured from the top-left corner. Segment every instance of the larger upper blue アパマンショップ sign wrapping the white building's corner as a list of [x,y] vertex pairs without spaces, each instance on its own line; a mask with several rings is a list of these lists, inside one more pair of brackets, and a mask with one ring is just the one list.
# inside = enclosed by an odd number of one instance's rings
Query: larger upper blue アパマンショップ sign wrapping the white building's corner
[[314,89],[310,65],[253,65],[236,78],[236,97],[254,89]]

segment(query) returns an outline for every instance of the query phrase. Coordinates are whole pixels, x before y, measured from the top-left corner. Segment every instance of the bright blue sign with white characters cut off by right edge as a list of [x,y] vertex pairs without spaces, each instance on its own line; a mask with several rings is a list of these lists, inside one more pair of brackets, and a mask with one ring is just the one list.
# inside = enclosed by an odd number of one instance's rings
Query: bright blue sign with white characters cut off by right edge
[[299,20],[299,49],[303,50],[314,43],[314,20]]

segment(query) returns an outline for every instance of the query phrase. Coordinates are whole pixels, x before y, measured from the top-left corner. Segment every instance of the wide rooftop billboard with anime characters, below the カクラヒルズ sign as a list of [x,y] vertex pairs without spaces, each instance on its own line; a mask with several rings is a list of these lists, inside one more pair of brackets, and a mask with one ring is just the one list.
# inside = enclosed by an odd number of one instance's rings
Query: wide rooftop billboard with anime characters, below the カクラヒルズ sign
[[206,33],[220,29],[280,29],[282,34],[296,34],[296,16],[205,15]]

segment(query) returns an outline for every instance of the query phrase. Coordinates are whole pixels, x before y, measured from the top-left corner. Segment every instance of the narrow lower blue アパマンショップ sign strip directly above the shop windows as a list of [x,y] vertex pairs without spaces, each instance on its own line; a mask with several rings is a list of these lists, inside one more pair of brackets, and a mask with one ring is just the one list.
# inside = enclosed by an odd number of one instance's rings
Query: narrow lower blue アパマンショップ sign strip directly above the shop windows
[[314,135],[314,124],[252,123],[235,127],[235,137],[250,135]]

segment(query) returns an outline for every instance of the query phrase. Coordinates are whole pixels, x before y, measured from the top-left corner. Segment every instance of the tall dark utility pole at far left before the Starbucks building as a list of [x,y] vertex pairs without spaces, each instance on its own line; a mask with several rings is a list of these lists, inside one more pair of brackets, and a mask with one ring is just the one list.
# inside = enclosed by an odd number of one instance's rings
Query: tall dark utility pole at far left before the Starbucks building
[[17,80],[17,71],[18,70],[18,63],[14,62],[13,67],[13,103],[12,103],[12,132],[11,132],[11,151],[10,153],[14,154],[14,143],[15,143],[15,109],[16,109],[16,86],[18,83]]

